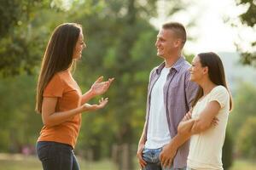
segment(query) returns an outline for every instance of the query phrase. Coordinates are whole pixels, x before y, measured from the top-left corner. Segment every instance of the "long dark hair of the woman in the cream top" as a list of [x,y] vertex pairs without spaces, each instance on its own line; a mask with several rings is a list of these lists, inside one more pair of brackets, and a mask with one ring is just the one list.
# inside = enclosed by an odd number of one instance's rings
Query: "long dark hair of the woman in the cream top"
[[[201,66],[208,67],[208,75],[210,80],[216,85],[224,86],[230,94],[230,90],[227,86],[227,82],[225,79],[224,66],[218,54],[209,52],[209,53],[201,53],[201,54],[198,54],[197,56],[200,59]],[[195,99],[192,105],[193,107],[202,96],[203,96],[203,89],[200,87],[195,96]],[[233,102],[230,94],[230,111],[232,109],[232,104]]]

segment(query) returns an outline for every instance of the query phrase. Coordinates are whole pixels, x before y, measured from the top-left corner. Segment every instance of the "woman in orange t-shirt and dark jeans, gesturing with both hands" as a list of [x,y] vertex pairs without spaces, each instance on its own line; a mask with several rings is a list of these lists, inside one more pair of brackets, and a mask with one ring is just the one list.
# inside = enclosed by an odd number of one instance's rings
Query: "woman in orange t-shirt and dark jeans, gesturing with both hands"
[[90,90],[82,94],[70,72],[73,63],[81,58],[86,48],[82,26],[75,23],[57,26],[49,39],[38,78],[36,111],[42,115],[44,127],[37,142],[38,158],[44,170],[78,170],[79,163],[73,153],[79,129],[81,113],[96,111],[108,103],[86,102],[104,94],[113,78],[102,82],[99,77]]

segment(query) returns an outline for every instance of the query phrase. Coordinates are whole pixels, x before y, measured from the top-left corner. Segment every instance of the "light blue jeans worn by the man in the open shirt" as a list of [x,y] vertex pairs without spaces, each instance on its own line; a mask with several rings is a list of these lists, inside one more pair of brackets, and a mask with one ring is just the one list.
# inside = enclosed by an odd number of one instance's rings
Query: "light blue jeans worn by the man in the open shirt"
[[[143,160],[147,162],[146,167],[143,170],[174,170],[173,167],[161,167],[160,153],[162,148],[159,149],[147,149],[143,150]],[[186,167],[178,168],[179,170],[186,170]]]

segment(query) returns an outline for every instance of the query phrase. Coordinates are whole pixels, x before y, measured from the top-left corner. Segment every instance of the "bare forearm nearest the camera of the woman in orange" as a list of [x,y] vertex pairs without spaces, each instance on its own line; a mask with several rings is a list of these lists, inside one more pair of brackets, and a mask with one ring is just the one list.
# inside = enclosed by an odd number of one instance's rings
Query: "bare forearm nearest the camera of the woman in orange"
[[70,111],[55,112],[50,114],[47,117],[43,116],[42,118],[43,118],[44,126],[51,127],[51,126],[61,124],[62,122],[66,122],[67,119],[71,118],[72,116],[76,116],[80,114],[82,111],[83,111],[83,105]]

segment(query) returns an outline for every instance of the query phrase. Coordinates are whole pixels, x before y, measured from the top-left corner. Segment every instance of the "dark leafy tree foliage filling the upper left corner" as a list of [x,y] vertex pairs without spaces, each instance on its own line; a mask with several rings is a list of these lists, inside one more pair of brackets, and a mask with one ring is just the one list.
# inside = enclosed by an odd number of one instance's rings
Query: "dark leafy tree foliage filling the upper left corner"
[[[32,34],[35,12],[46,8],[48,0],[10,0],[0,2],[0,76],[32,74],[42,54],[32,51],[40,34]],[[39,46],[40,48],[40,46]]]

